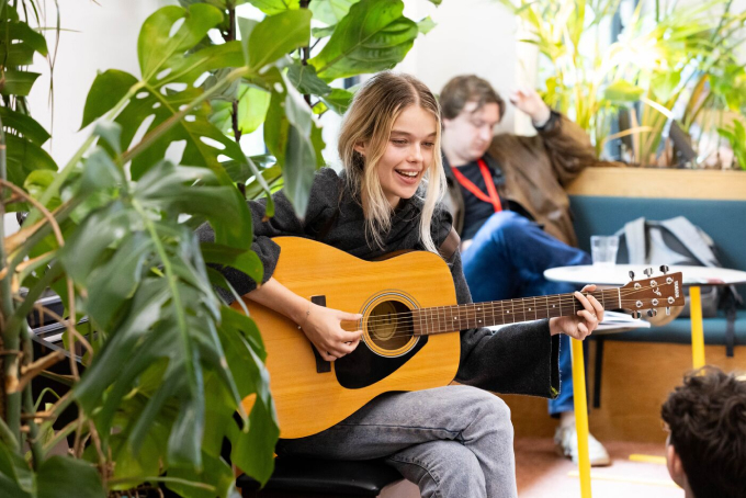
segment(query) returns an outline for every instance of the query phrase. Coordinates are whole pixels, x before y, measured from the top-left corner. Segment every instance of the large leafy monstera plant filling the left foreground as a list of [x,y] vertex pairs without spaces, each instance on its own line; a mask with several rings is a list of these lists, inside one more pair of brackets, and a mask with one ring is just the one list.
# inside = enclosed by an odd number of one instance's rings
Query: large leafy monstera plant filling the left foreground
[[[0,231],[8,210],[30,211],[0,245],[3,496],[103,497],[162,483],[184,497],[236,497],[225,439],[235,465],[260,482],[272,472],[279,431],[261,335],[217,298],[214,285],[235,291],[208,263],[260,279],[245,195],[281,181],[304,213],[323,163],[315,113],[341,112],[351,98],[334,80],[395,65],[418,29],[400,0],[318,0],[312,10],[253,0],[260,22],[237,19],[238,3],[190,0],[150,15],[139,76],[95,78],[83,110],[90,138],[57,170],[39,147],[48,135],[19,105],[35,78],[22,67],[29,50],[46,53],[44,38],[0,1],[0,47],[18,57],[3,67],[16,83],[5,84],[0,112]],[[313,16],[327,24],[316,54]],[[271,154],[247,157],[241,137],[260,124]],[[176,163],[165,160],[177,146]],[[214,244],[194,236],[204,222]],[[66,304],[68,359],[33,358],[25,317],[49,286]],[[59,361],[71,375],[55,378],[70,391],[41,406],[32,380]],[[74,421],[53,428],[70,409]],[[50,456],[66,438],[71,455]]]

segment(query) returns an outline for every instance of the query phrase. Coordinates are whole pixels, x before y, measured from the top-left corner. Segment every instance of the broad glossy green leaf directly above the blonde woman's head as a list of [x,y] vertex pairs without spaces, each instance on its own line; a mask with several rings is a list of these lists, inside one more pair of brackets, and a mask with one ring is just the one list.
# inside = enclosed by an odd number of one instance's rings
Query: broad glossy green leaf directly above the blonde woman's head
[[403,11],[402,0],[361,0],[350,7],[329,42],[309,60],[319,78],[376,72],[402,61],[418,34],[417,23]]

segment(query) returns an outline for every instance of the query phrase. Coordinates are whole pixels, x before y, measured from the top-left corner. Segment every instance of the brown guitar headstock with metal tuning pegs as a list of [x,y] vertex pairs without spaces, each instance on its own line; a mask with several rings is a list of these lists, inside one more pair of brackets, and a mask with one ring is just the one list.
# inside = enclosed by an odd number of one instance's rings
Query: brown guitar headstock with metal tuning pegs
[[652,276],[653,270],[646,269],[645,280],[634,280],[634,273],[630,272],[632,282],[620,287],[622,307],[632,310],[634,318],[640,318],[644,309],[648,310],[648,316],[655,316],[656,308],[666,308],[666,315],[669,315],[671,306],[683,306],[681,272],[666,273],[668,267],[665,265],[660,271],[662,275]]

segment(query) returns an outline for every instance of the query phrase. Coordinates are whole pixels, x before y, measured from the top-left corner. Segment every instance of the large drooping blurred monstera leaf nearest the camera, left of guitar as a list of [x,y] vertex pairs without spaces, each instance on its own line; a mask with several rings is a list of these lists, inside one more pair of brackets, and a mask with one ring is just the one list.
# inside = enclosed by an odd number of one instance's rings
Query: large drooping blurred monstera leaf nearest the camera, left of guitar
[[[94,156],[102,154],[99,149]],[[165,462],[174,468],[202,468],[205,420],[213,409],[205,397],[206,375],[214,376],[213,388],[223,389],[235,410],[256,388],[244,382],[239,391],[229,367],[238,372],[239,366],[228,364],[223,344],[251,349],[244,354],[253,354],[259,363],[263,351],[260,339],[241,342],[230,338],[235,328],[222,328],[221,303],[202,251],[179,216],[204,216],[215,226],[216,240],[235,247],[237,240],[251,239],[250,213],[238,191],[219,185],[205,168],[161,161],[135,184],[115,181],[126,194],[92,212],[60,253],[67,273],[88,291],[83,312],[108,336],[75,395],[93,414],[102,438],[116,428],[114,432],[127,435],[127,451],[135,457],[154,430],[162,433],[159,417],[170,414]],[[226,260],[229,250],[222,247],[212,251],[217,259],[261,275],[261,267],[239,253]],[[157,382],[148,386],[148,377]],[[117,412],[135,394],[144,398],[142,409],[123,422]],[[117,420],[123,427],[115,426]]]

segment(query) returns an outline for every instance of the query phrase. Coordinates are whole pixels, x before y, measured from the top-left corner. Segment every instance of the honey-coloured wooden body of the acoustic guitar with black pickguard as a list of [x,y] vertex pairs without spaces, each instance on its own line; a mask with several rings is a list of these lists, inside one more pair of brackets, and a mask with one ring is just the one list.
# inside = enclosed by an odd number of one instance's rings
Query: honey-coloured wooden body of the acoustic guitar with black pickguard
[[[454,378],[460,335],[419,336],[408,313],[456,304],[442,259],[417,251],[369,262],[304,238],[274,241],[282,248],[273,273],[279,282],[317,304],[363,314],[355,351],[323,362],[295,322],[245,298],[267,348],[281,438],[320,432],[382,393],[444,386]],[[245,400],[247,410],[251,404]]]

